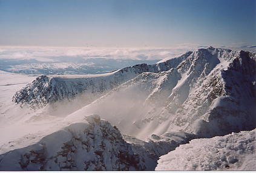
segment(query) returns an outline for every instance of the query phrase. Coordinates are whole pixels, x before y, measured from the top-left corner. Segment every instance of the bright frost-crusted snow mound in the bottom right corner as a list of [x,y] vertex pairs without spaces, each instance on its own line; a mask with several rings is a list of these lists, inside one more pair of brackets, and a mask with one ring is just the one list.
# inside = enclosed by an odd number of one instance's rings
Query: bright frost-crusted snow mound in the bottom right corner
[[160,157],[156,171],[256,171],[256,129],[194,139]]

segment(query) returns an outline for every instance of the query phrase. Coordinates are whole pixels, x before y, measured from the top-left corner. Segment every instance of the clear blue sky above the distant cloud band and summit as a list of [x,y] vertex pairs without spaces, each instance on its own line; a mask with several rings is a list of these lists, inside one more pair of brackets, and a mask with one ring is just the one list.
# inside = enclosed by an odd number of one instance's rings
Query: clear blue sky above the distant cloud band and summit
[[0,45],[256,44],[256,0],[0,0]]

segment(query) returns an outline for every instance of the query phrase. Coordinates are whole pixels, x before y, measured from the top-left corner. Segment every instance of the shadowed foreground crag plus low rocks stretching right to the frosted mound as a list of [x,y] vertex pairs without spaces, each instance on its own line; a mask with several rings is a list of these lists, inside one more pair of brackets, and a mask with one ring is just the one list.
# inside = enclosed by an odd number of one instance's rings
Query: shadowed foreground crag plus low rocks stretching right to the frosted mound
[[0,155],[0,171],[153,171],[160,155],[193,138],[182,132],[152,135],[148,142],[122,137],[93,114],[33,145]]

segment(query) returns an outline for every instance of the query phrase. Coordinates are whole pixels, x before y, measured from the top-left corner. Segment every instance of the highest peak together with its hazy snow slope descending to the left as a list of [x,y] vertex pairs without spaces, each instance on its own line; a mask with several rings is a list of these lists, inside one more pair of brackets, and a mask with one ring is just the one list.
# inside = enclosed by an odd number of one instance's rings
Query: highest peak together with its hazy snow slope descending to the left
[[120,131],[146,140],[185,131],[200,137],[255,128],[255,53],[200,49],[177,67],[145,72],[66,119],[100,114]]

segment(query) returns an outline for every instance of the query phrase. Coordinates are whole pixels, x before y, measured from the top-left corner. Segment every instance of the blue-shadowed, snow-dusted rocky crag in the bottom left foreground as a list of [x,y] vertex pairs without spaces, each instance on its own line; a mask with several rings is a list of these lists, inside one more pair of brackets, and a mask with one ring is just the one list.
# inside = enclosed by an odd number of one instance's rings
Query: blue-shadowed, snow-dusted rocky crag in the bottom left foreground
[[38,143],[0,155],[0,171],[128,171],[145,164],[119,130],[99,116],[85,117]]

